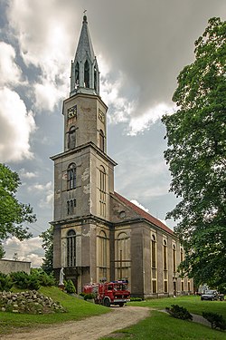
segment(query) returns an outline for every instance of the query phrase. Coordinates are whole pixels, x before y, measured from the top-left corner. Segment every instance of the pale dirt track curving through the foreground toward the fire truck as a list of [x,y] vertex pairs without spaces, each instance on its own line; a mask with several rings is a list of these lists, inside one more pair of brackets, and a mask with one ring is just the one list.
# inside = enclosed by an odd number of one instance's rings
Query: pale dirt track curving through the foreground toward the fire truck
[[95,340],[128,325],[136,324],[150,315],[150,310],[146,307],[113,306],[111,309],[111,313],[102,316],[91,316],[61,325],[42,326],[29,333],[3,335],[0,338],[1,340]]

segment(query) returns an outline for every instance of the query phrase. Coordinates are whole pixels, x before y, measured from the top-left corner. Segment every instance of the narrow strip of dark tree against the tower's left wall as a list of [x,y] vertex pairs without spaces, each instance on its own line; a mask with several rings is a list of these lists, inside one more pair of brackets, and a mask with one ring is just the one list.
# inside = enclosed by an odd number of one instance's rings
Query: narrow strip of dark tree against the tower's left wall
[[42,269],[50,275],[53,269],[53,227],[51,226],[40,235],[42,238],[42,248],[44,249],[44,258]]

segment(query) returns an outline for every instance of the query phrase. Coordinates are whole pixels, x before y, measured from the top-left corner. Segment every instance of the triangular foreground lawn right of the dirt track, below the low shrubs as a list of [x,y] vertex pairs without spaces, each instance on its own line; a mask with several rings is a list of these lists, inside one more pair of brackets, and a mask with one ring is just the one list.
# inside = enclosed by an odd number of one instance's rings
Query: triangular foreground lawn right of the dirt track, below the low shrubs
[[123,340],[225,340],[226,335],[205,325],[175,319],[162,312],[151,311],[151,316],[137,325],[115,332],[112,336],[102,337],[101,340],[116,338]]

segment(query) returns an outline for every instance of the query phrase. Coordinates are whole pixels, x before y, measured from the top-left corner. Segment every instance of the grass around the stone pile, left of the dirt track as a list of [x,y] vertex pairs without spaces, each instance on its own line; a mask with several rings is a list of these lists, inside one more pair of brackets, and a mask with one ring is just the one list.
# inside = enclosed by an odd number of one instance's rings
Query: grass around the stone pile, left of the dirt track
[[61,292],[58,287],[41,287],[39,292],[45,296],[51,296],[55,302],[60,302],[68,313],[55,313],[48,315],[28,315],[0,312],[0,335],[5,333],[13,333],[15,328],[37,327],[38,325],[50,325],[62,323],[72,320],[80,320],[88,316],[99,316],[108,313],[109,308],[99,305],[90,304],[74,296],[69,296]]

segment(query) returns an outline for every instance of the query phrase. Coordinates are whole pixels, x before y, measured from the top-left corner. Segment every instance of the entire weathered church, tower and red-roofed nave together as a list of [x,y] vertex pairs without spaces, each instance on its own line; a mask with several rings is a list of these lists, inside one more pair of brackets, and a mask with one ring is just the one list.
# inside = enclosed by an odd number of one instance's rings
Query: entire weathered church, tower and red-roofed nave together
[[[90,282],[128,280],[131,296],[193,292],[177,273],[184,259],[173,230],[114,189],[115,160],[107,152],[108,106],[83,16],[71,61],[71,92],[62,103],[64,150],[54,161],[53,268],[80,294]],[[128,174],[129,176],[129,174]]]

